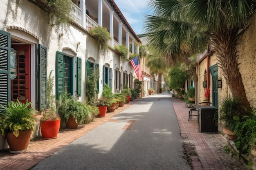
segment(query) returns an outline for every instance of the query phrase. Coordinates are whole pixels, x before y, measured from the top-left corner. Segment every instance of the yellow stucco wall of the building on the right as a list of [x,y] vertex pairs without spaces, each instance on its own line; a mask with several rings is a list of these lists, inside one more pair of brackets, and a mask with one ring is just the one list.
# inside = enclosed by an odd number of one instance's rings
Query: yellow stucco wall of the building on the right
[[[256,107],[256,17],[252,18],[248,31],[246,31],[240,38],[238,45],[238,62],[240,63],[239,69],[243,78],[245,91],[249,102],[252,106]],[[216,64],[216,55],[210,57],[210,66]],[[198,69],[198,103],[204,102],[205,89],[202,86],[204,81],[204,71],[207,68],[207,59],[200,61]],[[226,80],[222,75],[222,70],[218,68],[218,79],[222,80],[222,88],[218,88],[218,100],[221,104],[222,99],[231,94]],[[212,77],[210,74],[210,89],[212,87]],[[231,94],[232,95],[232,94]],[[212,101],[212,92],[210,101]]]

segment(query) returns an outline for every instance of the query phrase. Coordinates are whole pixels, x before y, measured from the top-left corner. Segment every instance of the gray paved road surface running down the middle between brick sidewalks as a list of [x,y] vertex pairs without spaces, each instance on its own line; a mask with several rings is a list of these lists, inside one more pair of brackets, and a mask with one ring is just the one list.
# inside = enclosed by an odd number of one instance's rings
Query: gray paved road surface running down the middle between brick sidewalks
[[[191,170],[170,94],[141,99],[112,119],[33,170]],[[135,124],[124,130],[129,120]]]

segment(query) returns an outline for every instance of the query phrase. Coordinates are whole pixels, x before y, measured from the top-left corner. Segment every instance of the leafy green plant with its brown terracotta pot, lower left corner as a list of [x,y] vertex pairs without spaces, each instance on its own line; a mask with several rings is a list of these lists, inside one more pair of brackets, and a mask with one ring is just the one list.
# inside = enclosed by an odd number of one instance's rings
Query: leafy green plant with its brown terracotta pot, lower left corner
[[32,102],[26,101],[22,104],[17,102],[9,102],[8,107],[2,106],[3,111],[0,112],[0,131],[5,136],[10,147],[11,153],[22,153],[27,150],[31,139],[31,131],[34,131],[34,121],[31,107]]

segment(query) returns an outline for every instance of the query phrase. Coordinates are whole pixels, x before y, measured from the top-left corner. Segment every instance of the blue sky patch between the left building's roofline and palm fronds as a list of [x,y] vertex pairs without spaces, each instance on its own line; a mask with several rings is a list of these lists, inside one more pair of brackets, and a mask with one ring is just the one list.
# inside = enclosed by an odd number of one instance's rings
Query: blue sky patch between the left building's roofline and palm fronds
[[145,33],[144,18],[149,13],[148,0],[114,0],[136,34]]

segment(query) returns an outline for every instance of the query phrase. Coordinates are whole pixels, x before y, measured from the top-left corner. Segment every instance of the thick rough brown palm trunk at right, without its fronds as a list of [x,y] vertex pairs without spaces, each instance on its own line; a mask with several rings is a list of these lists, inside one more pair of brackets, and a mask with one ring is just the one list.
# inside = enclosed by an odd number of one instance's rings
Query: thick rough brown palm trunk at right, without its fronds
[[240,31],[238,29],[225,29],[220,27],[221,30],[209,34],[211,43],[217,54],[219,67],[223,70],[223,76],[227,81],[234,97],[241,100],[244,107],[249,107],[249,101],[246,97],[243,79],[239,71],[238,51],[237,45],[240,35],[247,29]]

